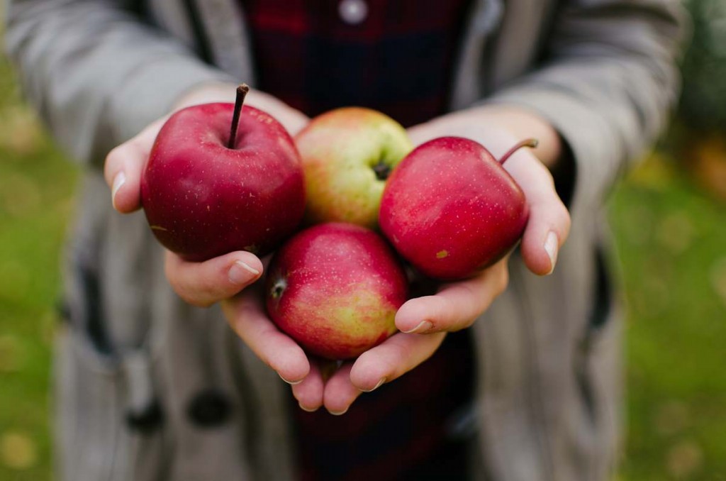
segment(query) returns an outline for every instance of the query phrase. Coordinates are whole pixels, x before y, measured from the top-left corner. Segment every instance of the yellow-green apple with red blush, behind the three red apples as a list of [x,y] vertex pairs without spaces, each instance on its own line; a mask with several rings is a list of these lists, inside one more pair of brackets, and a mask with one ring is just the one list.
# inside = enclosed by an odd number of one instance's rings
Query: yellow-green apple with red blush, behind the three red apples
[[386,179],[412,149],[406,130],[376,110],[346,107],[313,118],[295,145],[305,170],[306,222],[377,229]]

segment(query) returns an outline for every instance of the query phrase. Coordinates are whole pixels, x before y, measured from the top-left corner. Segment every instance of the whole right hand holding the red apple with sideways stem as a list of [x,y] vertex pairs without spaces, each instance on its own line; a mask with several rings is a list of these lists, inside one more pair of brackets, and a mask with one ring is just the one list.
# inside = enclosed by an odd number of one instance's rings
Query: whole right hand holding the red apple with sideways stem
[[[568,211],[545,166],[553,166],[560,154],[558,134],[529,112],[499,106],[453,113],[409,129],[414,145],[447,135],[476,140],[497,158],[520,140],[539,139],[539,158],[531,151],[520,150],[505,163],[505,168],[522,187],[529,203],[530,217],[521,244],[524,262],[535,274],[550,274],[570,228]],[[406,302],[396,313],[396,327],[401,333],[335,372],[325,384],[325,407],[345,412],[361,392],[396,379],[431,357],[446,332],[471,326],[505,290],[507,262],[508,256],[475,278],[446,283],[434,295]],[[319,382],[319,376],[313,376],[293,388],[303,408],[319,405]]]

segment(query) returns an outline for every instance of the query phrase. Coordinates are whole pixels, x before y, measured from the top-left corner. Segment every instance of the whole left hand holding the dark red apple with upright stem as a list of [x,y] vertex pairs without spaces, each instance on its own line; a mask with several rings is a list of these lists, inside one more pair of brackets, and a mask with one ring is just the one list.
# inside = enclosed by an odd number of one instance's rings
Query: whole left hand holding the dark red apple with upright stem
[[[206,84],[187,92],[179,99],[172,113],[190,105],[207,102],[234,102],[237,86]],[[258,91],[251,91],[245,105],[253,105],[277,118],[291,135],[309,121],[303,113],[280,100]],[[169,114],[171,115],[171,113]],[[114,208],[128,214],[140,209],[141,177],[156,136],[168,116],[158,119],[133,139],[112,150],[105,163],[105,179],[111,187]],[[293,339],[282,334],[266,315],[260,283],[251,288],[264,271],[261,259],[247,251],[234,251],[205,262],[187,262],[171,251],[165,254],[165,272],[176,294],[189,304],[207,307],[221,302],[227,322],[274,371],[290,384],[316,376],[308,376],[311,362]],[[314,373],[319,372],[314,365]],[[306,377],[307,376],[307,377]],[[322,378],[319,385],[322,386]],[[322,387],[321,387],[322,389]],[[322,390],[318,397],[322,397]]]

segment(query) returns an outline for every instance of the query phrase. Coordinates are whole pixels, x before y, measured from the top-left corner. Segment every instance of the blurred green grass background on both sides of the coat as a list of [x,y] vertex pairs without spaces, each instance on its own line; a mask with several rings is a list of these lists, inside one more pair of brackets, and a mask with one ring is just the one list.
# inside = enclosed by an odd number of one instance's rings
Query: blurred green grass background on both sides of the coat
[[[726,203],[684,160],[650,155],[609,203],[627,303],[619,480],[726,481]],[[0,58],[1,481],[52,479],[50,351],[77,175]]]

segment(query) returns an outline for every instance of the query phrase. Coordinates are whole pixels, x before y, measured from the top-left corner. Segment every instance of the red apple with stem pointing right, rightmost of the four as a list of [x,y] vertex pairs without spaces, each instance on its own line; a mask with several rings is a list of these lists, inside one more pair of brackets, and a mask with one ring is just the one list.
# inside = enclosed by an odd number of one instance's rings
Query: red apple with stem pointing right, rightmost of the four
[[478,142],[440,137],[399,164],[380,206],[380,228],[396,251],[431,278],[455,280],[502,259],[521,238],[526,199],[502,163]]

